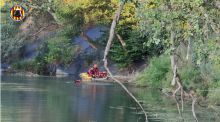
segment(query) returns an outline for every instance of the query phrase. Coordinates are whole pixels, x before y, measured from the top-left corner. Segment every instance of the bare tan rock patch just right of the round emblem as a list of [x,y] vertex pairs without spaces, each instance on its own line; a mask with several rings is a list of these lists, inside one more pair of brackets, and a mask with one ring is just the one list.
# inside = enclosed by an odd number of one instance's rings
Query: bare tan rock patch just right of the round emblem
[[48,12],[33,9],[19,26],[19,35],[36,40],[47,37],[58,28],[58,24]]

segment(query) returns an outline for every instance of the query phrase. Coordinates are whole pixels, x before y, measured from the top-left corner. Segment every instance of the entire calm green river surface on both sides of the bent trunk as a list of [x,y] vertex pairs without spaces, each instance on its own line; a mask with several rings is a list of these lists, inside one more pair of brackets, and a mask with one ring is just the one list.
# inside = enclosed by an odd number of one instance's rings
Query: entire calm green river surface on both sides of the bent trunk
[[[73,78],[2,76],[1,122],[143,122],[137,105],[115,83],[80,83]],[[173,99],[157,89],[129,89],[143,101],[150,122],[179,122]],[[220,109],[217,109],[220,110]],[[196,107],[200,122],[219,122],[218,113]],[[219,111],[220,112],[220,111]],[[184,122],[193,122],[190,103]]]

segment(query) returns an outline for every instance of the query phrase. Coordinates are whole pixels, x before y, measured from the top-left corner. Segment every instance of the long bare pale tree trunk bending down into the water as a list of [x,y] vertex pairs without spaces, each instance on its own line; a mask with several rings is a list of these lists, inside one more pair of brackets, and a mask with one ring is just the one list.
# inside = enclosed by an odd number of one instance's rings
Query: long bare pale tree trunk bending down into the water
[[115,13],[115,16],[114,16],[114,19],[112,21],[112,24],[111,24],[111,28],[110,28],[110,34],[109,34],[109,38],[108,38],[108,42],[107,42],[107,45],[106,45],[106,48],[105,48],[105,52],[104,52],[104,58],[103,58],[103,61],[104,61],[104,67],[105,69],[107,70],[109,76],[115,81],[117,82],[126,92],[127,94],[138,104],[138,106],[141,108],[141,110],[143,111],[144,115],[145,115],[145,122],[148,122],[148,118],[147,118],[147,113],[145,112],[144,108],[142,107],[142,105],[140,104],[140,102],[134,97],[134,95],[118,80],[116,79],[111,71],[109,70],[108,68],[108,60],[107,60],[107,56],[108,56],[108,53],[109,53],[109,50],[110,50],[110,47],[111,47],[111,44],[112,44],[112,41],[113,41],[113,38],[114,38],[114,31],[115,31],[115,27],[116,27],[116,24],[119,20],[119,17],[120,17],[120,14],[121,14],[121,11],[124,7],[124,2],[121,2],[117,12]]

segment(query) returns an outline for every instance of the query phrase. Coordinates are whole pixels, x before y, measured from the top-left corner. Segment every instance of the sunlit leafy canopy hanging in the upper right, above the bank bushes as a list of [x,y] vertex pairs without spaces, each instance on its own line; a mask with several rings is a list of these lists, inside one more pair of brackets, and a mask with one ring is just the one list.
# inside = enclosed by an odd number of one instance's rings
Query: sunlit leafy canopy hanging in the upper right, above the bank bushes
[[[164,0],[141,1],[137,17],[140,19],[139,27],[142,35],[150,36],[150,43],[155,44],[169,40],[171,29],[176,33],[177,44],[178,41],[193,37],[195,49],[198,52],[198,62],[200,62],[199,57],[207,52],[205,48],[202,48],[202,45],[206,45],[204,41],[214,36],[210,32],[212,30],[210,26],[213,25],[216,30],[219,29],[217,28],[219,22],[215,20],[219,20],[217,18],[220,13],[219,11],[213,13],[213,9],[207,10],[205,6],[202,6],[203,2],[203,0],[171,0],[170,3]],[[156,7],[150,7],[152,5]],[[210,18],[207,19],[205,14],[208,14]],[[173,28],[170,28],[171,24],[174,25]]]

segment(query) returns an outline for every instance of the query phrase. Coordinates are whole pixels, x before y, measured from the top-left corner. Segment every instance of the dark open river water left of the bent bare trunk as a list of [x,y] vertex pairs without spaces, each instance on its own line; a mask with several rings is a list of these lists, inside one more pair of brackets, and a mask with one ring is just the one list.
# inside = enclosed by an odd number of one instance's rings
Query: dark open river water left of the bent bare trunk
[[136,122],[140,118],[134,102],[112,83],[76,85],[70,78],[2,76],[1,97],[2,122]]

